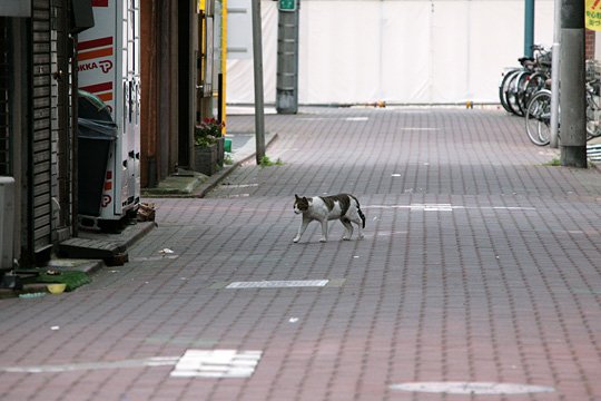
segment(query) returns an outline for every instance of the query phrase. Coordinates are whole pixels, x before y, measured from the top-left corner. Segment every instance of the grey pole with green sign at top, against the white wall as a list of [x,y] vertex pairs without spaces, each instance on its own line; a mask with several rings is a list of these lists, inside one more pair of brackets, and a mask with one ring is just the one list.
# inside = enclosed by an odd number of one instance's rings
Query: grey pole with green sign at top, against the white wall
[[276,110],[298,111],[298,1],[278,0]]

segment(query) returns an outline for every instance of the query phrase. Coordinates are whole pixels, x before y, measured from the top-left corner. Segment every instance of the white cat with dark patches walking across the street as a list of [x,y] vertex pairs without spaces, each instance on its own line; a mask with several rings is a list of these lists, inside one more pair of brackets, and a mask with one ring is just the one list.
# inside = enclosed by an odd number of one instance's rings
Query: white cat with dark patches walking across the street
[[358,228],[358,238],[363,238],[363,231],[365,228],[365,215],[359,208],[357,198],[348,194],[338,194],[334,196],[313,196],[313,197],[299,197],[295,196],[294,213],[302,214],[303,221],[298,227],[298,233],[294,237],[294,242],[297,243],[300,236],[307,229],[307,225],[317,221],[322,223],[322,238],[321,242],[327,241],[327,221],[339,219],[344,225],[345,233],[343,239],[349,241],[353,235],[353,225],[355,223]]

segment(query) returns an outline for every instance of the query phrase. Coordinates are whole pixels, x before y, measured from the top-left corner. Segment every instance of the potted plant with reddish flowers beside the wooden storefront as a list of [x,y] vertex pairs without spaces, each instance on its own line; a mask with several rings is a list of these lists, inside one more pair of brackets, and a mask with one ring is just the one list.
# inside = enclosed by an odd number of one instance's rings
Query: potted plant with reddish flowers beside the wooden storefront
[[213,175],[224,166],[224,124],[205,118],[194,130],[195,170]]

